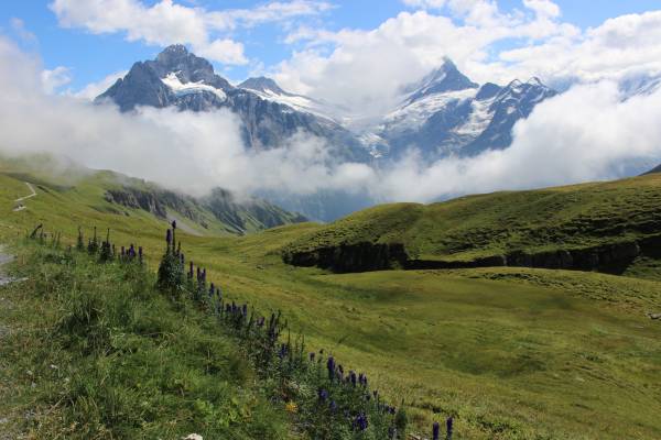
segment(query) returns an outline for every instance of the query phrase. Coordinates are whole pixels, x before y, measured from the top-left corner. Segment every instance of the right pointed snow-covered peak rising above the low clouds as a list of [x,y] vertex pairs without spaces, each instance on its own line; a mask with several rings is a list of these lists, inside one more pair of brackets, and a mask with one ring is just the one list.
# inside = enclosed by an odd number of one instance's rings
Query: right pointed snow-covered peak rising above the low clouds
[[430,160],[508,147],[514,123],[556,95],[538,78],[480,87],[448,59],[404,92],[402,103],[372,129],[376,147],[397,156],[415,146]]

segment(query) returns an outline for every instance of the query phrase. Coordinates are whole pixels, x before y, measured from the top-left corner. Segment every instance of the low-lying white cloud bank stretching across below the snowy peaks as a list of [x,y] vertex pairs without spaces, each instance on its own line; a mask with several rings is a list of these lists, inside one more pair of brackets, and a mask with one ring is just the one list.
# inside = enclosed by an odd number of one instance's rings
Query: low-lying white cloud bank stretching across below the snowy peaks
[[0,37],[0,153],[48,152],[203,195],[370,194],[379,201],[432,201],[498,189],[617,178],[661,162],[661,91],[622,100],[615,84],[575,87],[538,106],[505,151],[423,163],[414,151],[381,168],[334,163],[305,133],[271,151],[249,151],[228,111],[141,109],[123,114],[43,91],[39,61]]

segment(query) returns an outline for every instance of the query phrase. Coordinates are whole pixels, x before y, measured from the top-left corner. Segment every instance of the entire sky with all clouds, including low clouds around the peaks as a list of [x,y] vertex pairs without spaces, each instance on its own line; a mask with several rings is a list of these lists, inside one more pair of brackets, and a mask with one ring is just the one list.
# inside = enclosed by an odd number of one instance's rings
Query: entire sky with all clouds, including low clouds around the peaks
[[[318,190],[376,201],[614,179],[661,163],[661,1],[50,0],[0,3],[0,154],[54,153],[204,195]],[[242,145],[240,121],[90,99],[132,63],[183,43],[223,76],[382,114],[446,57],[478,82],[540,77],[562,91],[519,121],[503,151],[378,167],[339,163],[322,139]],[[412,185],[411,183],[415,183]]]

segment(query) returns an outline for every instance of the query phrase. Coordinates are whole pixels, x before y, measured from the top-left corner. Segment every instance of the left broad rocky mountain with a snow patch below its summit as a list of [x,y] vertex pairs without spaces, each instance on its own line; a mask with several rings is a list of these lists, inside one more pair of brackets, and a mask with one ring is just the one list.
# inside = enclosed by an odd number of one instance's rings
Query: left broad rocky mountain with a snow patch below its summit
[[327,140],[337,157],[370,161],[357,139],[333,120],[263,99],[247,88],[234,87],[215,74],[209,62],[188,53],[183,45],[165,48],[156,59],[136,63],[123,78],[97,98],[97,101],[104,100],[113,101],[122,111],[138,106],[192,111],[226,108],[239,116],[243,140],[252,148],[281,146],[303,130]]

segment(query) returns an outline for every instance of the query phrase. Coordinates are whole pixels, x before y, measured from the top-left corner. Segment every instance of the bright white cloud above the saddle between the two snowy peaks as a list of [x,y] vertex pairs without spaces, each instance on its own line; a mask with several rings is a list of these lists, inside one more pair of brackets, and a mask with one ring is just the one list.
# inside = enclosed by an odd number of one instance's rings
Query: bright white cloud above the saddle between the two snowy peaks
[[534,41],[575,32],[573,26],[539,13],[500,13],[491,1],[451,0],[447,7],[463,18],[464,24],[416,11],[402,12],[371,31],[300,28],[285,41],[308,44],[282,62],[273,76],[285,89],[335,101],[358,113],[379,114],[397,102],[402,86],[438,67],[446,56],[477,81],[509,82],[517,70],[494,63],[490,45],[508,38]]

